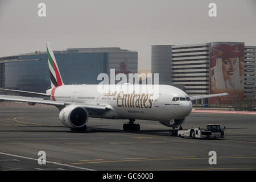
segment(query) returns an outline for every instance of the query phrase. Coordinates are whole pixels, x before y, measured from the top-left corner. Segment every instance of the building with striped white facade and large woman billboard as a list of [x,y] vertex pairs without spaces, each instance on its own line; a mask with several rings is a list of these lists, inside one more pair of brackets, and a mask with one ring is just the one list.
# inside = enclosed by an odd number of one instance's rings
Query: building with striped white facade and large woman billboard
[[183,84],[189,96],[223,92],[231,95],[224,101],[199,100],[201,104],[256,98],[256,46],[211,42],[151,48],[151,69],[159,73],[159,84]]

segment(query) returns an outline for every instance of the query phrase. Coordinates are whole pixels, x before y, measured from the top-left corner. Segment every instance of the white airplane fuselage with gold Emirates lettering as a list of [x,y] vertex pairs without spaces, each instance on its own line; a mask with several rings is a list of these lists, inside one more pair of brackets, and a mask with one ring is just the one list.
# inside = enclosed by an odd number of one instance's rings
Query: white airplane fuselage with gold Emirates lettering
[[[110,111],[103,115],[90,115],[96,118],[145,119],[171,123],[175,119],[184,119],[192,110],[189,96],[174,86],[158,85],[157,93],[134,90],[134,85],[126,85],[128,89],[123,91],[117,89],[118,85],[112,85],[114,90],[99,92],[98,86],[63,85],[47,92],[51,93],[51,100],[74,102],[77,105],[106,105],[110,108]],[[174,97],[180,99],[173,101]]]

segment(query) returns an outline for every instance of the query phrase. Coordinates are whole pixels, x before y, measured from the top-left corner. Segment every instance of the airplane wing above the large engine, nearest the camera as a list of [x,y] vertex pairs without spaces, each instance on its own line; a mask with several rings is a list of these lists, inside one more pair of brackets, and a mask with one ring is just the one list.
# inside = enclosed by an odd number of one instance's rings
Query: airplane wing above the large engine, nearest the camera
[[53,106],[67,106],[67,105],[75,104],[75,105],[84,107],[89,113],[95,113],[95,114],[102,114],[108,110],[111,110],[111,108],[106,105],[92,105],[92,104],[84,104],[84,103],[76,103],[76,102],[51,101],[51,100],[44,100],[43,98],[38,98],[38,97],[0,95],[0,100],[28,102],[30,104],[46,104],[46,105],[53,105]]

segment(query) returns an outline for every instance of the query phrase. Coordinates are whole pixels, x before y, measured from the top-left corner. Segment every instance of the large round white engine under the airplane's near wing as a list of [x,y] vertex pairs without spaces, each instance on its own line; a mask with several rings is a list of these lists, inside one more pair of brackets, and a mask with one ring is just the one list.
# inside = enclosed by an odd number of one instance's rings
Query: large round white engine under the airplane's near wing
[[60,111],[59,118],[63,125],[72,129],[79,129],[86,125],[89,114],[82,106],[69,105]]

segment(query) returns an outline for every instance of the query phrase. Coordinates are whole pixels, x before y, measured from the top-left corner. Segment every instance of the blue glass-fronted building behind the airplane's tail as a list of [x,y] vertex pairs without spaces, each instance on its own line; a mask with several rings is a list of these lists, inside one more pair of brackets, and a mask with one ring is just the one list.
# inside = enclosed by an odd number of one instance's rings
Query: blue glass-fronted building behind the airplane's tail
[[[100,73],[137,73],[138,52],[110,48],[53,51],[64,84],[98,84]],[[36,51],[0,57],[0,87],[44,93],[51,87],[47,53]]]

